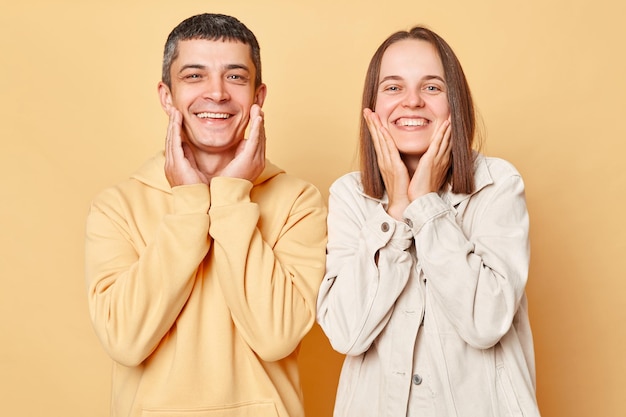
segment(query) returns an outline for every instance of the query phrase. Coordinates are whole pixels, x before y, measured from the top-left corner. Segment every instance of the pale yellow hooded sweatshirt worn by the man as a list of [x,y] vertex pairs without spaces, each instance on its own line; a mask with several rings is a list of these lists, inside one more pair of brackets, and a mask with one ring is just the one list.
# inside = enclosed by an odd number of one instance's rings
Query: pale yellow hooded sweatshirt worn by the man
[[319,191],[269,161],[254,184],[171,188],[164,161],[102,192],[87,217],[111,415],[302,416],[297,355],[325,264]]

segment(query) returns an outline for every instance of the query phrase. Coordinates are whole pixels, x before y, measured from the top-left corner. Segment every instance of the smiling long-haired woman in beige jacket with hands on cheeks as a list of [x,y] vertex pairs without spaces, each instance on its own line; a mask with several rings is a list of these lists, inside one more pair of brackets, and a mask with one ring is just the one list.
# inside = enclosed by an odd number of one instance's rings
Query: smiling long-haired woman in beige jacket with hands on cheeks
[[524,183],[474,152],[450,46],[415,27],[374,54],[361,172],[330,189],[318,322],[346,355],[335,416],[538,416]]

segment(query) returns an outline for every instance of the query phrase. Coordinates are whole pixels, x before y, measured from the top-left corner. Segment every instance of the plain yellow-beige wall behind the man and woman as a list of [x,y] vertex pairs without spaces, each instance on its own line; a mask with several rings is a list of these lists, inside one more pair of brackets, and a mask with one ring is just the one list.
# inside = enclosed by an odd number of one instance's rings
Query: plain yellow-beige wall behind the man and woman
[[[163,43],[182,19],[213,11],[261,43],[269,157],[324,195],[355,166],[377,45],[417,23],[446,38],[487,127],[485,152],[526,180],[543,415],[626,415],[623,4],[1,0],[1,414],[108,415],[110,362],[85,299],[87,207],[160,149]],[[316,327],[302,351],[309,417],[330,416],[340,363]]]

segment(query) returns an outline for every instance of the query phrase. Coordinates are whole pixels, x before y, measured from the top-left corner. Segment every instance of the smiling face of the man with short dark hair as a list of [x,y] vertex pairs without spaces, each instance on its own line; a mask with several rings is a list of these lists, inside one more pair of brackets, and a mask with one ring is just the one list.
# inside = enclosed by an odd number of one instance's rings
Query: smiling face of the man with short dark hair
[[183,140],[192,148],[233,152],[244,138],[250,106],[262,106],[265,99],[265,85],[254,86],[255,74],[244,43],[181,41],[170,70],[171,88],[159,85],[161,103],[182,113]]

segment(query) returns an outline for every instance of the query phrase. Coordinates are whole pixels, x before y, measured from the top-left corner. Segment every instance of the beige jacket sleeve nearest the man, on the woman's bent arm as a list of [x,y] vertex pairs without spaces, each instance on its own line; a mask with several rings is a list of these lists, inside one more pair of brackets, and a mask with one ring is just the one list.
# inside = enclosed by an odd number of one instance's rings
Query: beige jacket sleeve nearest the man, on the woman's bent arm
[[368,203],[350,176],[330,189],[317,321],[333,348],[347,355],[365,352],[385,328],[413,264],[409,228],[381,203]]

